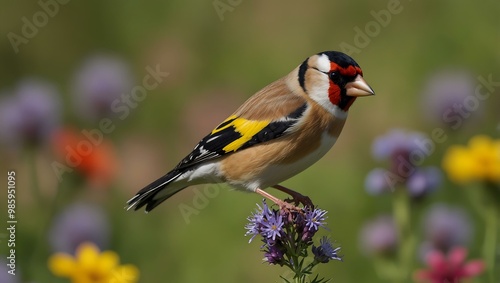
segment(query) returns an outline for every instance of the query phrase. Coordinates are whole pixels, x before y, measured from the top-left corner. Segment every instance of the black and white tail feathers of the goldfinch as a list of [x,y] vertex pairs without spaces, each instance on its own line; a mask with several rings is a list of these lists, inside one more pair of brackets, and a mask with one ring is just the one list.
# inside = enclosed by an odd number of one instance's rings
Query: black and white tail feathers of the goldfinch
[[163,177],[157,179],[151,184],[144,187],[142,190],[137,192],[137,194],[127,201],[127,210],[134,209],[138,210],[143,206],[146,206],[145,211],[150,212],[153,208],[158,206],[160,203],[173,196],[175,193],[186,188],[185,184],[180,184],[174,182],[183,172],[178,170],[173,170],[168,172]]

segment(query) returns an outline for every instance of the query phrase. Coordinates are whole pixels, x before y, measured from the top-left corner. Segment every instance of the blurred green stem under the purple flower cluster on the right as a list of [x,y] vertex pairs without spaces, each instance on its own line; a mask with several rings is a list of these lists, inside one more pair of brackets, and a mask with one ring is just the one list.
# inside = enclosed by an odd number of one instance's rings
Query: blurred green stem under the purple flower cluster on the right
[[407,282],[413,259],[415,237],[411,233],[410,197],[405,189],[396,189],[393,198],[393,214],[398,229],[400,247],[399,274],[396,281]]

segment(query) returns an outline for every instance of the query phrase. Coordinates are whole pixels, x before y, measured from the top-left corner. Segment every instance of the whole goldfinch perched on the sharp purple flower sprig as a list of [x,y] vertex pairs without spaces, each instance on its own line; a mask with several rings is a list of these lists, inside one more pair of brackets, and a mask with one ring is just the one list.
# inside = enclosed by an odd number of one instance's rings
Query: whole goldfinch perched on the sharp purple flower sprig
[[280,183],[323,157],[337,141],[356,98],[374,94],[349,55],[312,55],[251,96],[177,166],[138,191],[126,209],[145,206],[147,213],[189,186],[214,183],[298,209],[265,191],[273,187],[297,205],[312,205],[308,197]]

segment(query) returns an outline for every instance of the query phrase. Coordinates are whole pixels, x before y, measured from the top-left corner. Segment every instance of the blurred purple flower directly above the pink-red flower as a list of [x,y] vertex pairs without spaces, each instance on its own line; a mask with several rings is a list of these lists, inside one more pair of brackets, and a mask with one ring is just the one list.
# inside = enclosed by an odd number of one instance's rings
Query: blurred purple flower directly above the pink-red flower
[[423,226],[426,239],[423,253],[426,249],[448,252],[451,248],[465,246],[472,240],[472,221],[460,207],[433,205],[424,218]]

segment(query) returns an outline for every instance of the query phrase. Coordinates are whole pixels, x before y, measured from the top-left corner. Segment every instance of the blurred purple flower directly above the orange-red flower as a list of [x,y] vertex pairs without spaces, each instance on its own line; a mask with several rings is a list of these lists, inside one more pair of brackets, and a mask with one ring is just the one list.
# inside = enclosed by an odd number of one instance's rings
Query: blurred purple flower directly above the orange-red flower
[[95,55],[78,70],[73,82],[75,107],[87,119],[113,114],[111,104],[129,95],[134,84],[130,67],[121,59]]

